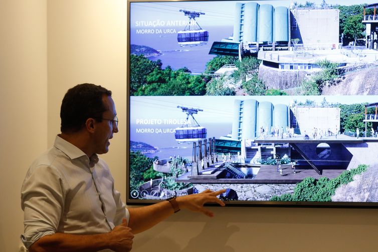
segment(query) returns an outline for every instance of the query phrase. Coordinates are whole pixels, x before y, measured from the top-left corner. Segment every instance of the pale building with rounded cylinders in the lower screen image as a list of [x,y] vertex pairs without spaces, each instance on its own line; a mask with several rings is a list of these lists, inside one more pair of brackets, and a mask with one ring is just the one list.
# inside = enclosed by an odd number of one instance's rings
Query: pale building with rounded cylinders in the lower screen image
[[254,99],[235,100],[232,123],[233,140],[253,141],[261,137],[261,128],[265,136],[271,134],[271,129],[283,129],[287,134],[288,128],[294,128],[300,135],[310,133],[313,128],[332,132],[335,127],[340,128],[340,109],[323,106],[298,106],[297,104],[272,104],[258,102]]

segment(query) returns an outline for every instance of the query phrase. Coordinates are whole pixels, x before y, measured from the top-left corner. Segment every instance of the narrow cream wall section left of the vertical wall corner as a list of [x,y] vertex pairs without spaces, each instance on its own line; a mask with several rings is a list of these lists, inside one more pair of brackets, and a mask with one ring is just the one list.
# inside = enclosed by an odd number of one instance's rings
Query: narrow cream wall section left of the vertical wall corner
[[0,0],[0,251],[18,251],[20,189],[47,148],[46,0]]

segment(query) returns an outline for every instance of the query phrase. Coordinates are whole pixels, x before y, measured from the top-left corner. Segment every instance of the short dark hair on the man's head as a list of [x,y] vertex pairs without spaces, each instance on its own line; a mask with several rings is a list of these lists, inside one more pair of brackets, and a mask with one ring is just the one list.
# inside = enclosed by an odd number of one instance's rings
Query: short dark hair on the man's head
[[102,113],[108,110],[102,102],[104,95],[111,96],[112,92],[94,84],[84,83],[70,88],[60,108],[60,130],[77,132],[88,118],[101,121]]

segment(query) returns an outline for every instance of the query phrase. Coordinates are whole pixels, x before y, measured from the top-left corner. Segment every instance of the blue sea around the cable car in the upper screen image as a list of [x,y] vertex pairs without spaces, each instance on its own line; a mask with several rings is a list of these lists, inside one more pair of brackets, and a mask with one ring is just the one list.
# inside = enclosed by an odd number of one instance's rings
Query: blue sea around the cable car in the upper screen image
[[[157,57],[149,57],[148,59],[156,61],[162,61],[162,67],[170,66],[173,70],[186,67],[192,71],[192,73],[203,73],[206,69],[206,63],[215,57],[215,55],[209,55],[210,49],[215,41],[221,41],[224,38],[232,36],[233,27],[219,27],[211,26],[206,27],[209,32],[208,44],[203,46],[185,46],[181,47],[177,43],[177,32],[182,30],[182,27],[169,28],[170,32],[164,33],[163,28],[159,29],[162,33],[156,34],[141,34],[140,31],[137,34],[137,30],[130,29],[130,44],[139,46],[148,46],[159,52],[162,55]],[[153,29],[149,29],[153,30]],[[154,29],[155,31],[156,29]]]

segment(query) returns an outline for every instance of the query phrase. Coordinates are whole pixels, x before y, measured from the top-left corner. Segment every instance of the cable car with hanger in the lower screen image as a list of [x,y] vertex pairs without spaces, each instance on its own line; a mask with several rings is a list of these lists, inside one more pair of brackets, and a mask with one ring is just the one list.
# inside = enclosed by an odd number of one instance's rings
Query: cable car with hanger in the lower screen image
[[[204,111],[202,109],[187,108],[182,106],[177,106],[182,112],[186,113],[185,123],[175,129],[174,137],[178,143],[183,142],[197,142],[206,139],[207,131],[205,127],[200,126],[196,121],[193,114],[197,114],[199,111]],[[190,118],[191,117],[191,118]],[[190,121],[193,121],[193,125],[190,125]]]

